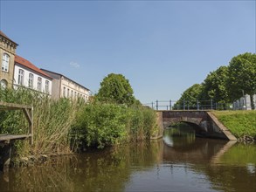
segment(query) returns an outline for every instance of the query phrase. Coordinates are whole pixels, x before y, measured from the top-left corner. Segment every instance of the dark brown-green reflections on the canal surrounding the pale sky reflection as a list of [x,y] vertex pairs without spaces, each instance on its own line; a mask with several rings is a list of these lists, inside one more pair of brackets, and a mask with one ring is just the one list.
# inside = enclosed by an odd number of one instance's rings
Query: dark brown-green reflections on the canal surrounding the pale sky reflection
[[256,146],[235,144],[218,163],[212,163],[225,143],[199,139],[190,145],[169,147],[160,140],[62,156],[41,166],[10,169],[9,183],[0,177],[0,190],[123,191],[135,171],[147,171],[168,161],[174,168],[184,165],[204,175],[214,190],[256,191]]

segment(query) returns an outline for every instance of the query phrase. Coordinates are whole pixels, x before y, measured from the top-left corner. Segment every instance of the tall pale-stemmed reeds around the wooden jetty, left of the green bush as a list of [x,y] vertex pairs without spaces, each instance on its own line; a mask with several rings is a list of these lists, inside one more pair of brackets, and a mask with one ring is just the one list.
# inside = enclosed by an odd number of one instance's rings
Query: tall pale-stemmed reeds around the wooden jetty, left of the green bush
[[[33,106],[34,144],[16,142],[19,156],[70,153],[68,135],[80,110],[78,101],[53,100],[49,96],[25,88],[0,90],[0,100]],[[0,113],[0,133],[27,134],[27,122],[22,111]]]

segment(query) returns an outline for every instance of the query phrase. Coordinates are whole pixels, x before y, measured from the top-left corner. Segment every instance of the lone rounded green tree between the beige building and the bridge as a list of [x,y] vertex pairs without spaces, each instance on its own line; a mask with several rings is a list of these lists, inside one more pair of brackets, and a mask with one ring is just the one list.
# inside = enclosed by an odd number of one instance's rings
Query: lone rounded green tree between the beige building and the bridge
[[134,91],[129,84],[128,79],[121,74],[108,74],[100,83],[99,93],[96,98],[100,101],[127,104],[135,103]]

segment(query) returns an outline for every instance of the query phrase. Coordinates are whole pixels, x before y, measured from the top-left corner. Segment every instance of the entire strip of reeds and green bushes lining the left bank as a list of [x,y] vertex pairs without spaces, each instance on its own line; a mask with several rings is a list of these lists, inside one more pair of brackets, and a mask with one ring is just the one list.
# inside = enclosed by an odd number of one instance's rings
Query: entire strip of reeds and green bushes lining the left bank
[[[53,100],[25,88],[0,89],[0,100],[34,108],[34,143],[15,141],[17,162],[45,161],[48,156],[72,154],[80,148],[148,139],[156,130],[156,113],[143,106]],[[0,134],[24,134],[27,126],[21,111],[0,112]]]

